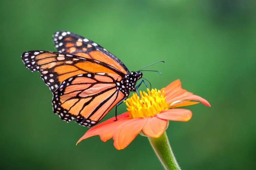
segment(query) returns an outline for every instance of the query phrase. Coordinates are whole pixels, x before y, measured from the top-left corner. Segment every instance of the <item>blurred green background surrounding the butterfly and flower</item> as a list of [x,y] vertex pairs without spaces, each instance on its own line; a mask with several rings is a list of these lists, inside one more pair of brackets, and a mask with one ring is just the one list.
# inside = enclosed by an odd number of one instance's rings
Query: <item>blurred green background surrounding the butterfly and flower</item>
[[248,0],[1,1],[0,169],[163,169],[140,135],[123,150],[99,136],[76,146],[88,128],[53,114],[51,92],[20,58],[56,51],[58,30],[94,40],[130,70],[164,60],[150,67],[162,75],[144,72],[154,88],[180,79],[210,102],[167,129],[182,169],[256,169],[255,9]]

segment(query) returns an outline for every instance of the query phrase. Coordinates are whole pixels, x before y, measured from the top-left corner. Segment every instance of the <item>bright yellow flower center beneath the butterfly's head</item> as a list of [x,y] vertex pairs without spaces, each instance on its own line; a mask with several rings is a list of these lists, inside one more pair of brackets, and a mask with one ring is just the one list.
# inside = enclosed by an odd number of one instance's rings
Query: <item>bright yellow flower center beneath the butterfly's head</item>
[[138,117],[150,117],[155,116],[157,113],[160,113],[161,110],[165,110],[167,107],[165,101],[165,92],[163,95],[160,90],[152,89],[151,92],[147,89],[147,92],[140,91],[141,99],[137,93],[134,93],[130,98],[125,100],[127,110],[131,118]]

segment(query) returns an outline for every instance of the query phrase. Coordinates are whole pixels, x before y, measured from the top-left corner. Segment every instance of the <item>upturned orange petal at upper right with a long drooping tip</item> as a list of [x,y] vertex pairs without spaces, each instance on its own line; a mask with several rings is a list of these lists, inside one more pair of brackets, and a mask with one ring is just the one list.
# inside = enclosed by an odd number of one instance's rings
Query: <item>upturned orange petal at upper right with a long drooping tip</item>
[[180,80],[175,80],[168,86],[166,86],[164,89],[165,96],[166,96],[166,103],[172,103],[178,100],[195,100],[200,101],[202,104],[206,106],[211,106],[207,100],[204,98],[194,95],[191,92],[188,92],[181,88],[181,82]]

